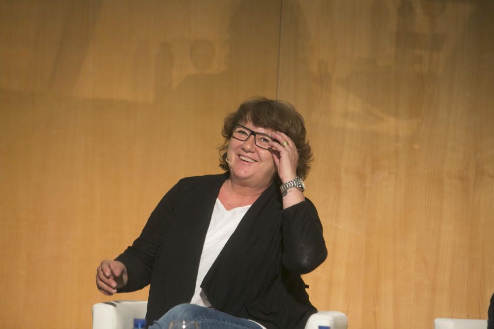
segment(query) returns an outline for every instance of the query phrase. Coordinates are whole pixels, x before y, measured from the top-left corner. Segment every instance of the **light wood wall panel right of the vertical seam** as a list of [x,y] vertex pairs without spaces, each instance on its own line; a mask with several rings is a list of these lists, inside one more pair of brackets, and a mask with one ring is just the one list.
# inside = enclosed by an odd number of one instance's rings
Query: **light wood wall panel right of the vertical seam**
[[283,1],[278,97],[304,114],[349,328],[486,318],[494,291],[492,1]]

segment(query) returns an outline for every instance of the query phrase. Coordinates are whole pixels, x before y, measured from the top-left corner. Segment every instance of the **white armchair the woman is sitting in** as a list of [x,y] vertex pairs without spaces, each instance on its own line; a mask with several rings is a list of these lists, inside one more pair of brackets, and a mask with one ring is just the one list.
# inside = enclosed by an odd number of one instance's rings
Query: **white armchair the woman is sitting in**
[[[92,307],[93,329],[132,329],[133,319],[143,319],[147,301],[114,300]],[[337,311],[319,311],[307,321],[305,329],[347,329],[348,318]]]

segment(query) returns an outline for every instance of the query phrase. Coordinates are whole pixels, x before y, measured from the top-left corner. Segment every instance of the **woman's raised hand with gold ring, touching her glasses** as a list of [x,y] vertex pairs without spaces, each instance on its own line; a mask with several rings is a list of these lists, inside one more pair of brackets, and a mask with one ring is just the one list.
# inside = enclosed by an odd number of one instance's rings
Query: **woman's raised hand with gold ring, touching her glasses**
[[[297,176],[299,157],[297,147],[287,134],[280,131],[273,133],[271,137],[280,142],[270,142],[269,146],[272,147],[271,153],[278,168],[278,176],[280,176],[282,183],[287,183]],[[285,146],[283,146],[284,144]]]

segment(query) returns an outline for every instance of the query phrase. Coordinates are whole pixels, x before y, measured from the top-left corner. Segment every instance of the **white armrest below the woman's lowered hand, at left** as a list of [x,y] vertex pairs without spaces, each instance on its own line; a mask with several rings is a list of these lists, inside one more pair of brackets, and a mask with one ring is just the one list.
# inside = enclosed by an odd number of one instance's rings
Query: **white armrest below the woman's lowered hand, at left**
[[94,304],[93,329],[132,329],[135,319],[144,319],[148,302],[114,300]]

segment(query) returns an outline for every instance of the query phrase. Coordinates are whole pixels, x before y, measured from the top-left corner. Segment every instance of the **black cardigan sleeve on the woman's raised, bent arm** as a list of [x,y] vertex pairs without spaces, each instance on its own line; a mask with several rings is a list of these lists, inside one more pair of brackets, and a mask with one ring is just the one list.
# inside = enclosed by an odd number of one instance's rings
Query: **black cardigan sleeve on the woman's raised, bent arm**
[[316,269],[328,256],[316,207],[305,199],[282,210],[283,265],[291,273]]

